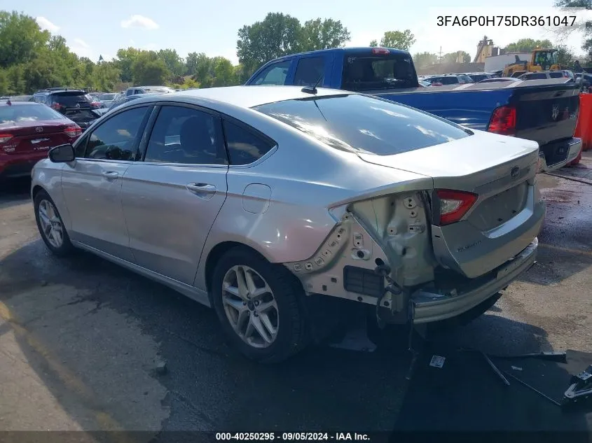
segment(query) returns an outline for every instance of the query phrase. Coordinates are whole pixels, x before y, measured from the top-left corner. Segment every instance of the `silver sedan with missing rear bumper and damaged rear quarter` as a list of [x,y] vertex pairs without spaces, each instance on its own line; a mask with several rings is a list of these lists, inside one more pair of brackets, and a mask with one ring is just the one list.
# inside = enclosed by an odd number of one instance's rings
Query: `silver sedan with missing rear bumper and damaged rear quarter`
[[538,159],[364,94],[222,87],[111,111],[36,164],[32,199],[54,253],[214,307],[242,353],[277,362],[326,297],[386,323],[486,310],[535,262]]

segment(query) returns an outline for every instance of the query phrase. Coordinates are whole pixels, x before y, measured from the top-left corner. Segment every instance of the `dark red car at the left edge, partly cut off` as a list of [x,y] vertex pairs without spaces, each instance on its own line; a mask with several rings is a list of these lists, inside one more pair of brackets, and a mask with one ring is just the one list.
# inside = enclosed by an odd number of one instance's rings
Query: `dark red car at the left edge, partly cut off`
[[76,123],[44,104],[0,102],[0,178],[29,176],[53,146],[73,143],[82,134]]

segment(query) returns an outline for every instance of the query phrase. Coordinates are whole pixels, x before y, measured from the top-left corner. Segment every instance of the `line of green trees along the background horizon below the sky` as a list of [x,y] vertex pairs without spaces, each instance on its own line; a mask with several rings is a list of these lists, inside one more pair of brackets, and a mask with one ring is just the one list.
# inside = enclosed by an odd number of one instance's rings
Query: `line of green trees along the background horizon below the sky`
[[[557,6],[569,6],[574,1],[589,3],[592,8],[592,0],[558,0]],[[592,31],[586,38],[584,49],[592,52]],[[350,31],[340,20],[316,18],[301,23],[291,15],[268,13],[263,20],[238,30],[236,66],[225,57],[208,57],[204,52],[181,57],[174,49],[121,48],[113,59],[93,62],[71,52],[62,36],[42,30],[33,17],[17,11],[0,11],[0,94],[31,94],[55,86],[113,91],[124,83],[170,85],[177,89],[238,85],[270,59],[340,48],[348,41]],[[409,50],[415,41],[410,29],[386,31],[380,41],[372,40],[369,46],[380,43],[387,48]],[[525,38],[506,49],[528,52],[540,46],[551,47],[551,42]],[[564,64],[573,61],[565,47],[560,47],[560,58]],[[421,52],[414,55],[414,60],[422,67],[438,62],[439,57]],[[442,57],[443,62],[459,60],[470,62],[471,56],[457,51]]]

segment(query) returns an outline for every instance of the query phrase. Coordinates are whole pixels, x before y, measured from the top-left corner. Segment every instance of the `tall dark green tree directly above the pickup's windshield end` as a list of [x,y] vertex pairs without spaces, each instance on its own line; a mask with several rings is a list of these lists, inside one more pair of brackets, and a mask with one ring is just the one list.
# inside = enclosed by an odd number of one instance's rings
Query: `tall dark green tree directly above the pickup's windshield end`
[[300,52],[302,36],[303,28],[296,17],[268,13],[263,21],[239,29],[236,54],[245,71],[253,73],[270,59]]

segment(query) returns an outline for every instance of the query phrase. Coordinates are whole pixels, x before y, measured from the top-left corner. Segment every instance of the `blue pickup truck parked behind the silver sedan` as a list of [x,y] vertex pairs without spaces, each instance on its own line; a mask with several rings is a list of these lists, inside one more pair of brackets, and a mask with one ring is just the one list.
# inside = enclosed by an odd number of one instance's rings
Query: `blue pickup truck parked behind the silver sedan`
[[372,94],[470,129],[539,143],[542,171],[574,160],[579,86],[565,79],[422,87],[409,52],[336,48],[287,55],[258,69],[247,85],[302,85]]

